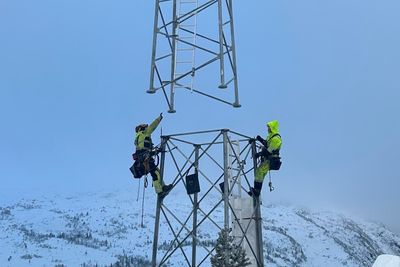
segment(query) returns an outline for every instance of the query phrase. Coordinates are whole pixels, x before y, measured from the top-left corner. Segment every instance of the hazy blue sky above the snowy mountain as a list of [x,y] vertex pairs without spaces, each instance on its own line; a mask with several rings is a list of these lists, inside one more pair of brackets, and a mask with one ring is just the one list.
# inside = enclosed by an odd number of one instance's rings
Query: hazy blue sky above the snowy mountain
[[[135,188],[134,126],[166,111],[145,93],[153,2],[0,0],[3,196]],[[242,108],[182,96],[163,131],[265,135],[277,119],[284,165],[265,203],[346,208],[400,233],[400,2],[234,4]]]

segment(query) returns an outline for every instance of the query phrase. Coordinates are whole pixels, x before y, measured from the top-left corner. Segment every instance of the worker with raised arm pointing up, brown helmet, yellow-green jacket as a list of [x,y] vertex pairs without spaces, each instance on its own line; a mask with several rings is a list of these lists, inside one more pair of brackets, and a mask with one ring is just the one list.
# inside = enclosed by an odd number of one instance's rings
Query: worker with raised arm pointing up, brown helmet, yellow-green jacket
[[162,113],[160,113],[160,116],[157,117],[150,125],[140,124],[135,128],[136,158],[144,166],[144,174],[150,173],[153,179],[154,189],[160,197],[166,196],[173,187],[171,184],[165,185],[164,182],[161,182],[160,169],[156,166],[153,158],[155,153],[154,144],[151,140],[151,134],[160,124],[162,118]]

